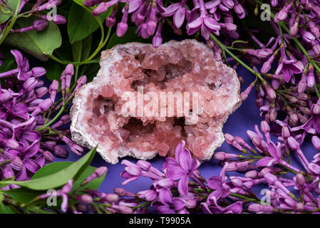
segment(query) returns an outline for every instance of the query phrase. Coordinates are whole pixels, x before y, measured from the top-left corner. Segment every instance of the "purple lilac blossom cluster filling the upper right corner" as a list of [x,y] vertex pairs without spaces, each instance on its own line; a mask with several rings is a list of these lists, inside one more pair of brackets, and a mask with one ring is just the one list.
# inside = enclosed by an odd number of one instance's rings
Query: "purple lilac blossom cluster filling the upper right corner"
[[[318,106],[320,96],[319,4],[316,1],[271,1],[271,5],[274,7],[272,20],[267,23],[274,36],[263,43],[257,38],[259,31],[248,29],[250,45],[259,48],[250,48],[247,43],[230,48],[249,60],[252,73],[257,76],[257,80],[242,93],[242,99],[245,100],[255,88],[256,103],[264,120],[274,123],[284,113],[282,120],[290,128],[303,128],[311,133],[309,125],[316,125],[313,120],[318,111],[314,107]],[[234,69],[237,66],[239,64]],[[314,129],[319,133],[319,128]]]

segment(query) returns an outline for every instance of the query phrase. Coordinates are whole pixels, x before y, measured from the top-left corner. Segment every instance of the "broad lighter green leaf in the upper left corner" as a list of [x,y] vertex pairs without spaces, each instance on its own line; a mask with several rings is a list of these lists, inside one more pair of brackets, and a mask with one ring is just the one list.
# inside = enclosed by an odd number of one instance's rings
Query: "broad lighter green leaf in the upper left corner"
[[[32,24],[32,18],[21,18],[16,21],[19,28],[24,28]],[[59,28],[52,21],[43,31],[27,31],[25,33],[11,33],[7,36],[7,44],[16,46],[30,53],[41,61],[48,60],[53,51],[61,46],[62,38]]]

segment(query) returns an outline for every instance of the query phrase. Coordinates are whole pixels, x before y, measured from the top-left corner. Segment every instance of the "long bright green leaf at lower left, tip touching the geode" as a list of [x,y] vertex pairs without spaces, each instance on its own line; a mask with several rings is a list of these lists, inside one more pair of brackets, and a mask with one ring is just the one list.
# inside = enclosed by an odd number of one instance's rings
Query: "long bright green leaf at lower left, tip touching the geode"
[[0,181],[0,185],[15,184],[21,187],[27,187],[31,190],[48,190],[51,188],[58,188],[65,185],[68,180],[73,179],[76,181],[83,171],[86,170],[86,167],[88,167],[95,154],[96,147],[81,157],[77,162],[74,162],[63,170],[52,173],[51,175],[29,181]]

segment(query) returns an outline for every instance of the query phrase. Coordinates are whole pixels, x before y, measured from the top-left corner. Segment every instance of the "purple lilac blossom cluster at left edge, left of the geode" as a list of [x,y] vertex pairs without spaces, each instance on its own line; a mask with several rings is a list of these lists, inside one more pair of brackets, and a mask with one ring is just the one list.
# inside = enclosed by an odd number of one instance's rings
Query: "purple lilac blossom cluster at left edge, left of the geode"
[[16,68],[0,73],[0,178],[29,180],[43,165],[52,162],[54,155],[68,155],[61,144],[81,155],[83,148],[70,140],[70,130],[63,127],[71,121],[69,115],[56,113],[71,102],[75,91],[86,83],[86,76],[71,88],[74,72],[69,64],[61,76],[63,98],[58,99],[58,81],[48,88],[43,86],[40,77],[46,70],[29,68],[28,59],[19,51],[11,53],[16,58]]

